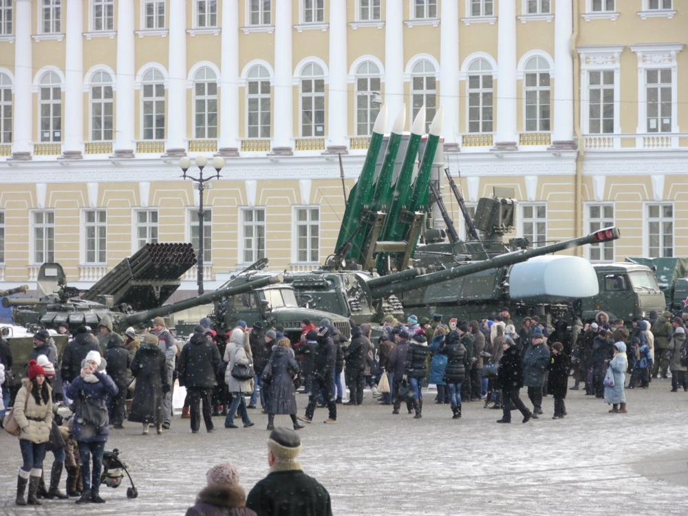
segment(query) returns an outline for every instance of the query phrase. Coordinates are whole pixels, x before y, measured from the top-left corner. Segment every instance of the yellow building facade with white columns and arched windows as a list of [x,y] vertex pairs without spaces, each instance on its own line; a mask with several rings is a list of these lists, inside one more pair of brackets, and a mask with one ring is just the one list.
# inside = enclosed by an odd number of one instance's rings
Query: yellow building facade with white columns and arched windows
[[0,281],[58,261],[86,288],[147,241],[197,246],[184,155],[226,162],[206,290],[263,256],[315,268],[383,102],[407,129],[444,107],[444,163],[469,207],[515,189],[513,236],[613,224],[575,252],[688,255],[687,26],[681,0],[0,0]]

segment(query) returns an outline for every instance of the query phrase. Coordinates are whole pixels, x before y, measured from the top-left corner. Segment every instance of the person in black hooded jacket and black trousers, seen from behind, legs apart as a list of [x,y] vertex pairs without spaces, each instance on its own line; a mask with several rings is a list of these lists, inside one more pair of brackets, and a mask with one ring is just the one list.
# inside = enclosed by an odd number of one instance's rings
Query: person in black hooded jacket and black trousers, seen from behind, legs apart
[[178,379],[180,387],[186,387],[189,395],[191,432],[198,433],[201,426],[200,404],[203,400],[203,420],[208,433],[215,430],[211,418],[213,385],[222,358],[214,342],[208,341],[206,329],[201,325],[193,328],[193,336],[182,348],[179,358]]

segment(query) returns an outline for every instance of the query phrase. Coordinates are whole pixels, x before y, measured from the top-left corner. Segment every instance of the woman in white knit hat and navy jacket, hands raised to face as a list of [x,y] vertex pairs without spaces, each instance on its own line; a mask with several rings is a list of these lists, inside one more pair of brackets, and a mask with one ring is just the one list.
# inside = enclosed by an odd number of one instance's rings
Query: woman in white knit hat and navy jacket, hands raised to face
[[[67,398],[78,399],[74,413],[74,440],[81,459],[81,480],[83,491],[77,504],[104,504],[98,495],[100,473],[103,471],[103,452],[109,436],[107,419],[107,396],[118,393],[117,385],[105,374],[105,360],[97,351],[89,351],[81,374],[74,378],[67,389]],[[91,455],[93,470],[91,471]],[[90,481],[90,482],[89,482]]]

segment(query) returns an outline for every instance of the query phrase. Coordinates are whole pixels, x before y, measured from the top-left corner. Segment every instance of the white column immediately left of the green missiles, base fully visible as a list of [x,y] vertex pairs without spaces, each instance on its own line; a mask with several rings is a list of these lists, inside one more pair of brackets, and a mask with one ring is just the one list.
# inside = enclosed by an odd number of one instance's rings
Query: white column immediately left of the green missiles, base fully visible
[[330,0],[330,90],[327,96],[327,151],[347,153],[347,23],[346,2]]

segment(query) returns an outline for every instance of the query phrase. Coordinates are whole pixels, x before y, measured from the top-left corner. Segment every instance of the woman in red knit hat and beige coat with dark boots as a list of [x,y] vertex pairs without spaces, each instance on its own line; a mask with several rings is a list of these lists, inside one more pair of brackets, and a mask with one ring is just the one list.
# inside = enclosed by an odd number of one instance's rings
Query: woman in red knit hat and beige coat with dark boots
[[[28,378],[21,380],[21,389],[14,400],[14,419],[19,424],[19,448],[22,466],[17,477],[17,505],[41,505],[36,497],[45,458],[45,444],[52,427],[52,389],[45,381],[45,369],[29,361]],[[29,484],[27,499],[24,499]]]

